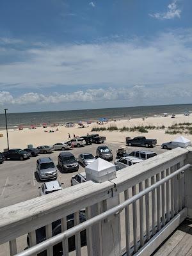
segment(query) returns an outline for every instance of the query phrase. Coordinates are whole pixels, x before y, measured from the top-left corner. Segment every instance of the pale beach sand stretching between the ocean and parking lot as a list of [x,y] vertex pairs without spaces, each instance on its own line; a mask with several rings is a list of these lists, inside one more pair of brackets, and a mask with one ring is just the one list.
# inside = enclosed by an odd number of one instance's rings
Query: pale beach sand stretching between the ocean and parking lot
[[[192,115],[184,116],[184,115],[176,115],[175,118],[171,118],[171,116],[163,117],[163,116],[154,116],[145,118],[143,121],[142,118],[134,118],[131,120],[116,120],[116,122],[111,121],[108,124],[98,125],[97,123],[92,123],[88,125],[88,127],[79,128],[79,125],[76,124],[75,127],[67,128],[65,126],[58,126],[59,131],[55,131],[56,127],[47,127],[44,129],[42,127],[37,127],[36,129],[28,129],[24,128],[19,131],[18,129],[14,131],[13,129],[8,130],[8,136],[10,141],[10,148],[26,148],[29,144],[32,144],[33,147],[38,147],[40,145],[53,145],[54,143],[59,143],[68,140],[68,133],[70,133],[71,138],[73,138],[73,134],[76,136],[83,136],[87,133],[95,133],[91,132],[93,127],[109,127],[110,125],[116,125],[118,128],[121,127],[134,127],[134,125],[156,125],[161,126],[164,125],[168,127],[175,123],[183,123],[190,122],[192,123]],[[87,125],[86,125],[87,126]],[[45,132],[45,130],[49,131],[52,129],[54,132]],[[172,141],[178,136],[182,135],[189,140],[192,141],[192,134],[165,134],[166,129],[164,130],[148,130],[148,133],[141,132],[120,132],[120,131],[103,131],[96,132],[99,133],[100,136],[106,136],[106,142],[113,141],[117,144],[125,143],[125,137],[129,136],[131,138],[135,136],[146,136],[147,138],[157,139],[157,145],[161,145],[161,143],[166,141]],[[3,152],[4,148],[7,148],[7,140],[6,140],[6,131],[0,131],[0,134],[3,134],[3,137],[0,137],[0,151]]]

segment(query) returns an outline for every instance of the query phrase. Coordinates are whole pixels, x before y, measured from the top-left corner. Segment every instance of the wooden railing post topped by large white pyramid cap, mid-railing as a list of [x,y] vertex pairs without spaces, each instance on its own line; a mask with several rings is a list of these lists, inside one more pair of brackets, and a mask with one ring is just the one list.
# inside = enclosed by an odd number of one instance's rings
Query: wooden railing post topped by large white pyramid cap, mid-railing
[[[86,180],[102,183],[115,179],[116,168],[114,164],[98,158],[85,168]],[[120,203],[119,195],[113,195],[97,205],[91,206],[91,216],[104,212]],[[90,239],[93,256],[119,256],[120,255],[120,214],[111,216],[92,227],[92,239]],[[89,255],[89,254],[88,254]]]

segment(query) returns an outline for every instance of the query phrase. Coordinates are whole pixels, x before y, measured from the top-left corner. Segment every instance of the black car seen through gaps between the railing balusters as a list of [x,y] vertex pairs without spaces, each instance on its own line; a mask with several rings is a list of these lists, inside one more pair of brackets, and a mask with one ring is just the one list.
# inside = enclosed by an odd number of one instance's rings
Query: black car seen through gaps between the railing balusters
[[[79,212],[79,223],[82,223],[86,220],[86,216],[84,211]],[[70,214],[67,216],[67,229],[74,227],[74,214]],[[46,239],[45,227],[38,228],[35,230],[36,232],[36,243],[41,243]],[[52,222],[52,236],[56,236],[61,233],[61,220],[57,220]],[[81,247],[86,245],[86,230],[80,232],[81,236]],[[27,237],[28,246],[29,244],[29,236]],[[68,252],[72,252],[76,249],[75,236],[68,238]],[[58,243],[53,246],[53,256],[62,256],[63,248],[62,243]],[[47,252],[40,252],[38,256],[47,256]]]

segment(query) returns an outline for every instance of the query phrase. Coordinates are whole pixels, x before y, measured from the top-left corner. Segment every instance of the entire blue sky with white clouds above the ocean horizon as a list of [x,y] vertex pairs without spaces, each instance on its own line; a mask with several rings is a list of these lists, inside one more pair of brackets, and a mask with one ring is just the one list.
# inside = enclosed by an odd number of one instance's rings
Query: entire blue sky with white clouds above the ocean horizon
[[191,0],[1,1],[0,109],[191,103],[191,13]]

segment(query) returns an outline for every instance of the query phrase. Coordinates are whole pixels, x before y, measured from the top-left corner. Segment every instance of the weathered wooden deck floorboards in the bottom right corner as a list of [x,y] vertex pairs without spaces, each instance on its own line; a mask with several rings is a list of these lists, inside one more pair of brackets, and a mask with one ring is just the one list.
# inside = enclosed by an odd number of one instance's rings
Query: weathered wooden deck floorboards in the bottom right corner
[[184,220],[153,256],[191,256],[192,221]]

